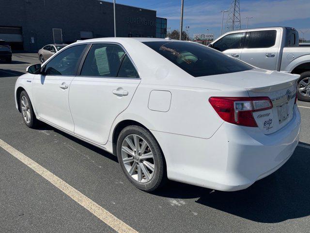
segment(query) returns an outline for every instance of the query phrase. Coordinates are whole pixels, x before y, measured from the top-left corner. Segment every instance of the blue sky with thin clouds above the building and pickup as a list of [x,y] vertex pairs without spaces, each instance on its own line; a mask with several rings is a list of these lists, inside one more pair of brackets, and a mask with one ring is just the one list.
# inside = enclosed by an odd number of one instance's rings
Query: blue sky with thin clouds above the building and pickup
[[[156,10],[158,17],[168,18],[171,31],[179,29],[181,0],[116,0],[116,3]],[[230,4],[231,0],[184,0],[183,25],[190,27],[190,36],[206,33],[208,28],[209,33],[215,33],[217,37],[221,27],[221,13],[218,11],[228,10]],[[305,32],[304,37],[310,39],[310,0],[240,0],[240,11],[242,28],[246,28],[247,23],[244,17],[253,17],[249,19],[249,28],[294,27]],[[299,37],[302,37],[300,31]]]

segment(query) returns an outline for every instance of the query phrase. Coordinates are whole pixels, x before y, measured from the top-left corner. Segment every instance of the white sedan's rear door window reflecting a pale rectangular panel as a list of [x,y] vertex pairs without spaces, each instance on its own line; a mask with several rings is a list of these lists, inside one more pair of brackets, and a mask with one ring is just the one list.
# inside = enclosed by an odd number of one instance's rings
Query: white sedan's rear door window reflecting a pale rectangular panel
[[84,61],[82,76],[117,77],[125,52],[114,44],[94,44]]

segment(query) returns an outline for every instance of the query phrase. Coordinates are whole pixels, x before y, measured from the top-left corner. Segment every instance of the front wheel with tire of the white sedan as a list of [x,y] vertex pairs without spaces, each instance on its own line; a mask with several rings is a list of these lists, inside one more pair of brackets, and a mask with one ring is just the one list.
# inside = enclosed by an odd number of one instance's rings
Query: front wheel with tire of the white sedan
[[33,112],[31,100],[26,91],[22,91],[19,97],[19,107],[21,115],[25,124],[29,128],[35,128],[38,124],[38,120]]

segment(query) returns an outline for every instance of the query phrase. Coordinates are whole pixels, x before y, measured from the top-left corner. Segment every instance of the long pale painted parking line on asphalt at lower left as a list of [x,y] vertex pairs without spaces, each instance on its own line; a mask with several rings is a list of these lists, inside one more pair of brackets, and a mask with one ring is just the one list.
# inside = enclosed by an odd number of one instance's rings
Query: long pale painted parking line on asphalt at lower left
[[90,211],[94,216],[98,217],[101,221],[103,221],[104,223],[109,225],[111,228],[113,228],[116,232],[138,233],[136,230],[128,226],[126,223],[118,219],[116,216],[109,213],[109,211],[102,208],[100,205],[95,203],[93,200],[89,199],[88,197],[80,193],[78,190],[76,190],[74,187],[70,186],[68,183],[65,183],[62,179],[55,176],[53,173],[48,171],[46,168],[37,164],[36,162],[31,160],[29,157],[19,152],[15,148],[11,147],[9,144],[2,141],[1,139],[0,139],[0,147],[8,151],[16,159],[18,159],[25,165],[29,166],[32,170],[37,172],[39,175],[47,179],[47,181],[55,185],[57,188],[59,188],[62,192],[64,192],[70,198],[78,202],[78,204],[80,204],[85,209]]

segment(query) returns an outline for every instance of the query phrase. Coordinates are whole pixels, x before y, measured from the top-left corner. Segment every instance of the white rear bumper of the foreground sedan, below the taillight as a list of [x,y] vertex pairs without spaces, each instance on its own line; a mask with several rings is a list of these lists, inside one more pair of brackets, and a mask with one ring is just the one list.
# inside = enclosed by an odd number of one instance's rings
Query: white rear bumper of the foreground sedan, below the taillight
[[275,172],[299,142],[300,114],[276,133],[223,123],[209,139],[152,131],[171,180],[222,191],[245,189]]

